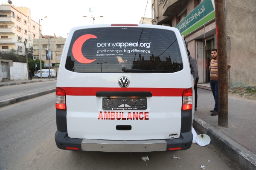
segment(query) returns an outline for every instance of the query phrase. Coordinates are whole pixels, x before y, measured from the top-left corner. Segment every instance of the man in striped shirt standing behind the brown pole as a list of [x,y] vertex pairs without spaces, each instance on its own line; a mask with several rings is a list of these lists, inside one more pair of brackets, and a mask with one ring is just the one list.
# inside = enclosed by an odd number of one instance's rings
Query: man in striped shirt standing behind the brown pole
[[[215,100],[214,109],[211,111],[211,116],[218,115],[218,61],[217,49],[212,49],[212,60],[209,66],[210,71],[210,85],[212,94]],[[227,71],[230,69],[230,63],[227,63]]]

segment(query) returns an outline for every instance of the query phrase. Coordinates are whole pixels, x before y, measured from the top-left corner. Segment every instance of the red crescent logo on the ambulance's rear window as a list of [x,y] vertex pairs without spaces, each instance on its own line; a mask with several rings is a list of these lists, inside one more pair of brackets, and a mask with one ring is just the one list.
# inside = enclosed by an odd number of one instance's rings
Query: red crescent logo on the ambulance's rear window
[[83,64],[88,64],[94,62],[96,59],[87,59],[82,54],[82,45],[84,42],[90,38],[97,38],[95,35],[92,34],[85,34],[79,37],[73,44],[72,53],[76,61],[81,62]]

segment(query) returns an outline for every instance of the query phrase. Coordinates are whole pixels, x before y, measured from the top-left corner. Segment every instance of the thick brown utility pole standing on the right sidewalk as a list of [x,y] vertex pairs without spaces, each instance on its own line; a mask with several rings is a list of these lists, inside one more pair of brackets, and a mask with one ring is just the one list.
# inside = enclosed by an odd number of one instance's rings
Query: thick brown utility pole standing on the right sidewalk
[[227,49],[226,18],[224,0],[214,0],[216,38],[218,50],[218,125],[228,126],[228,82],[227,82]]

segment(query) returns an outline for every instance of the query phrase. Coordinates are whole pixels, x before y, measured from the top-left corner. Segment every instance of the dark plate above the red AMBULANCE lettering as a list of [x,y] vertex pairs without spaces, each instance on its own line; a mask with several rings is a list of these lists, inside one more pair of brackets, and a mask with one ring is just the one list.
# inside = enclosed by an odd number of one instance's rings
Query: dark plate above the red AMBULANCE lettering
[[146,97],[103,98],[103,110],[145,110]]

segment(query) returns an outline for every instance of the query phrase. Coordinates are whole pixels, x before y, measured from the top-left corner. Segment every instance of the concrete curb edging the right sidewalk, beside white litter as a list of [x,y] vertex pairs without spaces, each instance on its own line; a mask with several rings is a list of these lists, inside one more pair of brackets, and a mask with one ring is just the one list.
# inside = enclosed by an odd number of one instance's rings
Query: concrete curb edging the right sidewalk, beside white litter
[[241,169],[256,170],[256,155],[247,148],[230,139],[198,116],[194,116],[193,127],[200,133],[210,136],[211,142],[230,160],[236,162]]

